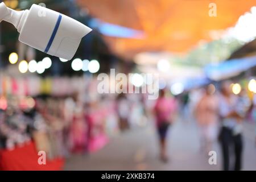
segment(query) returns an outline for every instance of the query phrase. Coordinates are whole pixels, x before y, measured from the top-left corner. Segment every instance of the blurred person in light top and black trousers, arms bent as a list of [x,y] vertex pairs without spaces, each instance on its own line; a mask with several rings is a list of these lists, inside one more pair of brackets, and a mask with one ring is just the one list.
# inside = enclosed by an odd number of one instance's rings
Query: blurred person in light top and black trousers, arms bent
[[[238,97],[232,94],[230,82],[221,85],[219,98],[219,113],[221,118],[220,143],[223,155],[223,169],[241,170],[242,168],[242,120],[237,111]],[[234,166],[230,165],[232,155],[235,156]]]

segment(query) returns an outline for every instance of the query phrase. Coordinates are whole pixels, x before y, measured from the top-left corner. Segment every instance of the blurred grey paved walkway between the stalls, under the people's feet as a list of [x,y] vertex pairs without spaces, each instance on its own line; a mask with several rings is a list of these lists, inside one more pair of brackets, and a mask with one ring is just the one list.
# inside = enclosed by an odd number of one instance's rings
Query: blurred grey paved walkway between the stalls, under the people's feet
[[[254,125],[245,125],[243,169],[256,170]],[[209,156],[200,151],[195,123],[179,121],[168,133],[170,162],[158,158],[158,140],[154,127],[133,129],[112,138],[102,150],[90,155],[73,155],[67,159],[66,170],[220,170],[221,153],[218,143],[217,164],[208,163]]]

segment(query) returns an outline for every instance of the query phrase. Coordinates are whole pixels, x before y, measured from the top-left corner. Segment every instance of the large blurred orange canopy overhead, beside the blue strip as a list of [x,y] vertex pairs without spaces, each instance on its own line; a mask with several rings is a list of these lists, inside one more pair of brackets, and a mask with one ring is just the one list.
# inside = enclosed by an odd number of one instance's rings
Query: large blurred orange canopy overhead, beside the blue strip
[[[78,0],[89,13],[105,22],[142,30],[143,39],[105,37],[110,48],[132,57],[142,51],[184,53],[201,40],[210,41],[233,27],[256,5],[255,0]],[[210,3],[217,16],[210,17]],[[214,34],[215,33],[215,34]]]

